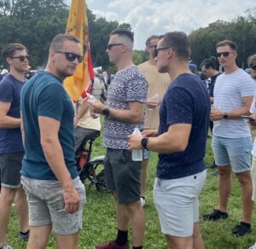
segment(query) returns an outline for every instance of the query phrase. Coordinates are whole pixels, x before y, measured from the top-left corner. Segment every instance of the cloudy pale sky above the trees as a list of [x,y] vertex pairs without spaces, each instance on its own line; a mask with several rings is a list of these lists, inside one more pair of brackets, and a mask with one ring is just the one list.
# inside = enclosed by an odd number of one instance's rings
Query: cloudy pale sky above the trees
[[[72,0],[66,0],[70,5]],[[145,49],[151,35],[190,32],[216,20],[233,20],[256,7],[255,0],[85,0],[96,17],[131,24],[134,48]]]

